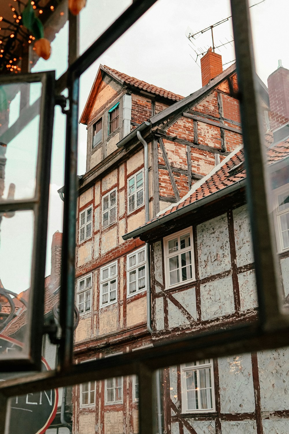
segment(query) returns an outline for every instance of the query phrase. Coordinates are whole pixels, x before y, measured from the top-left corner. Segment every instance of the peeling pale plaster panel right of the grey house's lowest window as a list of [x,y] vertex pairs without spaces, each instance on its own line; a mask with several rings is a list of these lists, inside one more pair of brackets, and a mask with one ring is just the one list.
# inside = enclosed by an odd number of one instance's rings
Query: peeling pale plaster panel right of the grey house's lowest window
[[218,359],[222,413],[251,413],[255,398],[250,354]]

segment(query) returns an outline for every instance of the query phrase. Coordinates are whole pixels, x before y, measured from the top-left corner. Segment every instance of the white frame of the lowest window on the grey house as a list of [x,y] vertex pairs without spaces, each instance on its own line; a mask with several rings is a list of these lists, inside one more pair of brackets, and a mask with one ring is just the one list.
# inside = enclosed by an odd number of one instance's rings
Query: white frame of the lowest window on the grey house
[[[181,393],[182,393],[182,414],[188,413],[213,413],[216,411],[216,403],[215,403],[215,385],[214,385],[214,365],[213,359],[209,359],[209,363],[203,363],[198,365],[198,361],[196,361],[196,365],[185,366],[185,364],[180,365],[180,373],[181,373]],[[186,386],[186,377],[185,373],[187,371],[196,370],[197,371],[197,395],[198,402],[200,402],[200,388],[199,388],[199,375],[198,372],[201,369],[210,368],[211,370],[211,398],[212,398],[212,408],[196,408],[196,409],[188,409],[188,400],[187,400],[187,386]]]

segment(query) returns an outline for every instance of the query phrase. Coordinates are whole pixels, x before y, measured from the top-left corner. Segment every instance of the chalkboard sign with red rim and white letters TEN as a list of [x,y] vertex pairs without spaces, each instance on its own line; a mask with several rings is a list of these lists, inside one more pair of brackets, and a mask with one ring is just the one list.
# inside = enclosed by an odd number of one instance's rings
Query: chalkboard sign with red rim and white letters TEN
[[[10,352],[22,347],[21,342],[0,334],[0,353]],[[49,365],[42,358],[42,367],[49,371]],[[14,374],[5,374],[0,378],[5,381],[15,377]],[[11,398],[9,434],[42,434],[48,429],[55,418],[58,403],[57,389],[49,389],[39,393],[28,393]]]

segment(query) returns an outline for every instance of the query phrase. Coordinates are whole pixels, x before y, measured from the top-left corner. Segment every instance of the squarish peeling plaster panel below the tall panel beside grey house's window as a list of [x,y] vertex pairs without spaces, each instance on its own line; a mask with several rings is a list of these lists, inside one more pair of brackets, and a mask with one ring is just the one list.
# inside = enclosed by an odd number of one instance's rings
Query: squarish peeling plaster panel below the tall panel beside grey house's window
[[201,285],[201,312],[203,320],[223,316],[234,311],[234,293],[231,276]]

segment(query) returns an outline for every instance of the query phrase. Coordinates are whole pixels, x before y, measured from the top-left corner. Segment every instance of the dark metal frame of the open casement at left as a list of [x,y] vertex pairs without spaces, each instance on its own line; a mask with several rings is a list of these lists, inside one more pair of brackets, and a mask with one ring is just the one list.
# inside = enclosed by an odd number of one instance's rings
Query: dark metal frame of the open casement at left
[[[27,329],[23,342],[23,352],[13,353],[5,358],[1,355],[0,370],[25,371],[41,369],[42,325],[44,320],[44,278],[45,253],[48,219],[48,200],[50,182],[50,164],[52,151],[52,129],[54,118],[54,85],[55,72],[37,72],[36,74],[21,74],[18,76],[1,76],[0,85],[21,83],[42,83],[42,96],[32,105],[34,114],[40,114],[38,157],[36,164],[35,195],[31,198],[17,200],[2,200],[0,213],[9,211],[32,210],[34,214],[31,285],[29,292],[29,309]],[[31,107],[29,109],[31,109]],[[2,140],[10,141],[31,121],[30,112],[21,114],[17,128],[10,128],[2,136]],[[44,235],[44,236],[43,236]],[[9,288],[8,288],[9,289]]]

